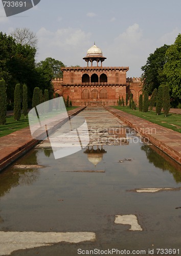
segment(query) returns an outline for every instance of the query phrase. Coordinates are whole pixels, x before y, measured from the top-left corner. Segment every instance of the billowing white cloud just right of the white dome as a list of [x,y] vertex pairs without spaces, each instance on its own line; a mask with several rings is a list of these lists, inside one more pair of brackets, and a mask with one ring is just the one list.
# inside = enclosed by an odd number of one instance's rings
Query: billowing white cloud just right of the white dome
[[142,74],[141,67],[145,65],[152,50],[152,41],[144,38],[143,30],[135,23],[118,34],[107,46],[107,50],[105,57],[110,66],[128,66],[128,76],[138,77]]

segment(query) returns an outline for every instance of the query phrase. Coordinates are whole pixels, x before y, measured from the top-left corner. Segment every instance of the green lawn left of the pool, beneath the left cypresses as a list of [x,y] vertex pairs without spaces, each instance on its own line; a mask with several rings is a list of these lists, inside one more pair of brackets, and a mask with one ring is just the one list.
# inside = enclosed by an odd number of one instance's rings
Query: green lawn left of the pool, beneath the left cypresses
[[[67,111],[73,110],[77,106],[71,106],[66,108]],[[24,115],[21,115],[19,121],[15,121],[13,116],[8,116],[5,125],[0,125],[0,137],[16,132],[22,128],[29,126],[28,118],[24,119]]]

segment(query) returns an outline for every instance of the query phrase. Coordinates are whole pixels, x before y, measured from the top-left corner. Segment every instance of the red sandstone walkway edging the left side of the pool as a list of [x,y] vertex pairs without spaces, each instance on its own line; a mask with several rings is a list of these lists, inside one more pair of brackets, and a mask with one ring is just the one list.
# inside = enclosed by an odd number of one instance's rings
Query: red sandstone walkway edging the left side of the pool
[[[76,108],[67,112],[69,117],[76,116],[86,106]],[[65,123],[69,118],[56,123],[52,128],[50,133],[56,131],[56,129]],[[49,134],[50,134],[49,133]],[[30,133],[29,127],[6,135],[0,138],[0,172],[10,165],[12,162],[17,160],[22,155],[26,154],[31,148],[37,145],[39,140],[33,139]]]

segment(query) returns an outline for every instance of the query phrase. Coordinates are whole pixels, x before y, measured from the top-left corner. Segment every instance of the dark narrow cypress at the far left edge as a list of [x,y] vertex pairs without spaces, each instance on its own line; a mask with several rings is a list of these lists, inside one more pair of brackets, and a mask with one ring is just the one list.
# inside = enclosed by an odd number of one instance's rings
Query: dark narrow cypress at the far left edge
[[6,124],[7,96],[6,83],[4,79],[0,80],[0,124]]

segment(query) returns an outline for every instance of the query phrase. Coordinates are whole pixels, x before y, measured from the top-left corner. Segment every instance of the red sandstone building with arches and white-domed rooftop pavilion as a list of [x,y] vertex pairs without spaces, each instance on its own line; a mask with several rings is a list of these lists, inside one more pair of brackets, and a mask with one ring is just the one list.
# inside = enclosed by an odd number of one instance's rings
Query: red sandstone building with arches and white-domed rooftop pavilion
[[[73,106],[117,105],[119,97],[126,99],[132,93],[139,101],[142,94],[140,78],[127,78],[129,67],[102,67],[106,59],[96,45],[87,51],[86,67],[61,68],[62,78],[52,80],[55,93],[65,99],[69,96]],[[93,66],[96,62],[96,66]]]

